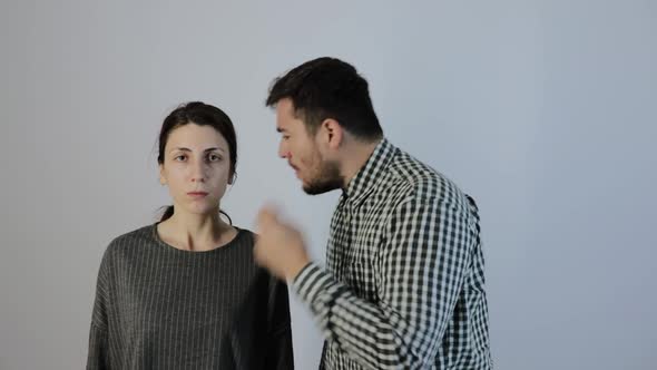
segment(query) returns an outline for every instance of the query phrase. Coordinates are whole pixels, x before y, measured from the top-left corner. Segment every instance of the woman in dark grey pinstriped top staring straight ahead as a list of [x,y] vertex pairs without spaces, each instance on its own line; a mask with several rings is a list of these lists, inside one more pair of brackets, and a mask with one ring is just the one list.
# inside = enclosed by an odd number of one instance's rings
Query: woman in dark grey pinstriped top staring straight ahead
[[237,163],[231,119],[180,106],[157,160],[174,205],[105,252],[87,369],[292,369],[286,285],[254,264],[254,234],[219,217]]

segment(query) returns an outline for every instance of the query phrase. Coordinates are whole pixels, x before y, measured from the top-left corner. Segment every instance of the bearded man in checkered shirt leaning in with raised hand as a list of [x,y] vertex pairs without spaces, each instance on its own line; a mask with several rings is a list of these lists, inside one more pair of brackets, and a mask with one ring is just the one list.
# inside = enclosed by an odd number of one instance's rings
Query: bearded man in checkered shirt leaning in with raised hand
[[342,189],[325,270],[274,211],[258,215],[256,261],[308,304],[326,339],[320,368],[490,369],[474,201],[384,138],[344,61],[292,69],[266,105],[303,189]]

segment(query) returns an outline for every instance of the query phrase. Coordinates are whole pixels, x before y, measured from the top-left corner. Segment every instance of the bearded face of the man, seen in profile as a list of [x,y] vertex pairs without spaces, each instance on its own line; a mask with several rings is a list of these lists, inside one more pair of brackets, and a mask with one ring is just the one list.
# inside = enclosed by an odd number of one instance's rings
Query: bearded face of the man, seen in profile
[[304,192],[311,195],[343,185],[337,163],[324,160],[318,149],[317,134],[321,129],[315,135],[308,133],[304,121],[295,116],[291,99],[281,99],[276,105],[276,130],[281,133],[278,156],[287,159],[301,179]]

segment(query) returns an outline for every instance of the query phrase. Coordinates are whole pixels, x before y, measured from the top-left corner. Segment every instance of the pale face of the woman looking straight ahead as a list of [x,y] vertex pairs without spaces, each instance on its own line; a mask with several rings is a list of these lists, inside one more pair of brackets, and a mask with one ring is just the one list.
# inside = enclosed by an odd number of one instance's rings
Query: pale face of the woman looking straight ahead
[[160,182],[169,187],[176,212],[216,213],[232,183],[229,147],[212,126],[194,123],[169,133],[159,165]]

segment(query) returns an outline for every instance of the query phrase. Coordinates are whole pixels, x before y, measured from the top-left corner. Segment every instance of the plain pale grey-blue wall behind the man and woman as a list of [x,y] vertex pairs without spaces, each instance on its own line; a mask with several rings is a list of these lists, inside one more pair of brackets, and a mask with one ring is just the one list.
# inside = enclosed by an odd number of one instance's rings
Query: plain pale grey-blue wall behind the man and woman
[[[179,103],[224,108],[252,227],[284,205],[324,257],[337,193],[276,158],[275,76],[345,59],[386,136],[481,208],[498,369],[657,361],[655,1],[3,0],[0,369],[84,367],[95,279],[115,236],[168,204],[155,140]],[[293,298],[295,360],[321,338]]]

